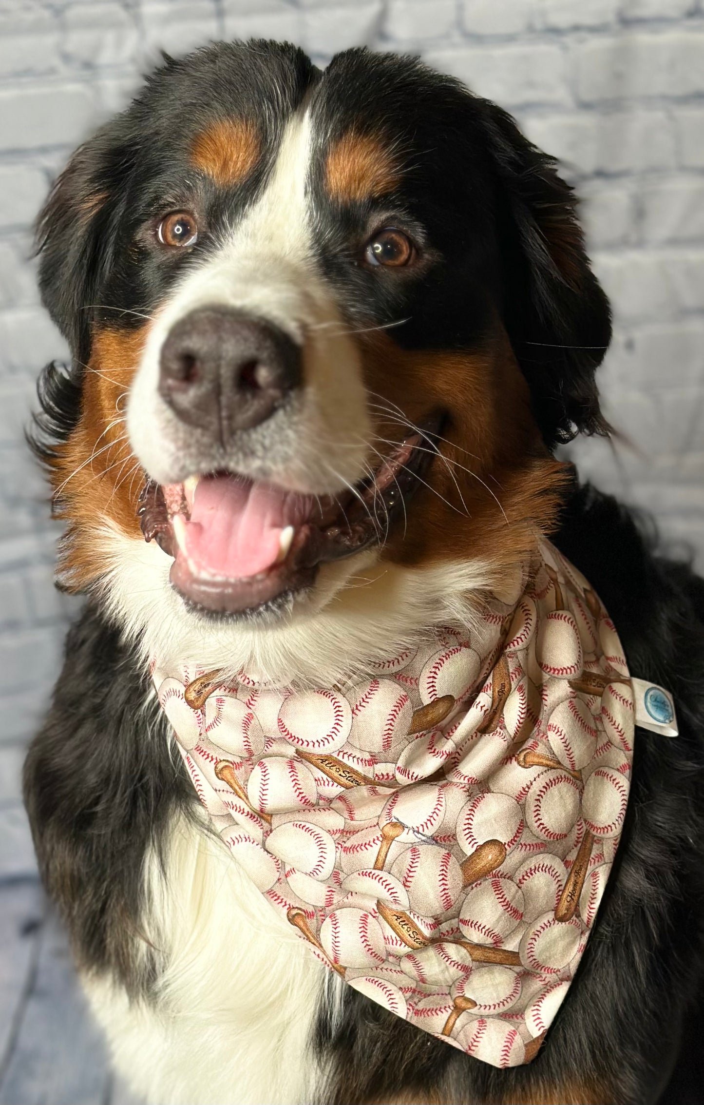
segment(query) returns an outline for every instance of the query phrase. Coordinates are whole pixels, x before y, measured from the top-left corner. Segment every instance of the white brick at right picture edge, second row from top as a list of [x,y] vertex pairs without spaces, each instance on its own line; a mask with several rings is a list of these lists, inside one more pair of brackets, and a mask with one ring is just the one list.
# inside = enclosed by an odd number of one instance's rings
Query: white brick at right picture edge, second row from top
[[585,103],[689,96],[704,88],[704,34],[620,34],[572,46],[577,95]]

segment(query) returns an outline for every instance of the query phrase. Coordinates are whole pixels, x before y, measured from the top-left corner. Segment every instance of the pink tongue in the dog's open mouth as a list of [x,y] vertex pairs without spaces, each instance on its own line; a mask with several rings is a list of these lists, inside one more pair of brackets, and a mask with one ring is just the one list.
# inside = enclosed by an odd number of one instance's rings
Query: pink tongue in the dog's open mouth
[[312,499],[237,476],[199,481],[186,524],[186,551],[200,571],[228,579],[256,576],[276,560],[280,536],[311,513]]

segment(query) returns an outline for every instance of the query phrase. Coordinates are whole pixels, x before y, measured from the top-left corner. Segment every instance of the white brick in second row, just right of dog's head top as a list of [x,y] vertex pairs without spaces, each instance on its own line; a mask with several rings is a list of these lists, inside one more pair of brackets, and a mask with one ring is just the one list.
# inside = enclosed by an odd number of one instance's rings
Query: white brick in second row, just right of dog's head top
[[509,106],[569,102],[565,56],[556,45],[485,45],[430,51],[437,69],[464,81],[473,92]]

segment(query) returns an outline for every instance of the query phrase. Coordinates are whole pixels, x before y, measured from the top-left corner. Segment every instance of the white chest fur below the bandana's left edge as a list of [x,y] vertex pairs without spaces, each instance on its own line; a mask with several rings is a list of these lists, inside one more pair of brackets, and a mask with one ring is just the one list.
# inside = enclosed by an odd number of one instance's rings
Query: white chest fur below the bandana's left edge
[[339,980],[280,918],[227,848],[183,820],[164,872],[147,860],[143,924],[164,955],[156,1000],[84,979],[116,1070],[148,1105],[308,1102],[311,1041]]

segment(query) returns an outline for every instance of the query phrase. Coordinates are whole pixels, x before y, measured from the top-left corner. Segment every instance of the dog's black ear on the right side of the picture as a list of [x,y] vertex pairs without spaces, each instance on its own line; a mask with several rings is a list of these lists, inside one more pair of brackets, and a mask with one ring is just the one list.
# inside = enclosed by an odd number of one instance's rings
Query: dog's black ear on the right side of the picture
[[607,434],[595,372],[611,338],[609,302],[589,267],[571,187],[514,119],[482,101],[498,176],[503,318],[548,448]]

